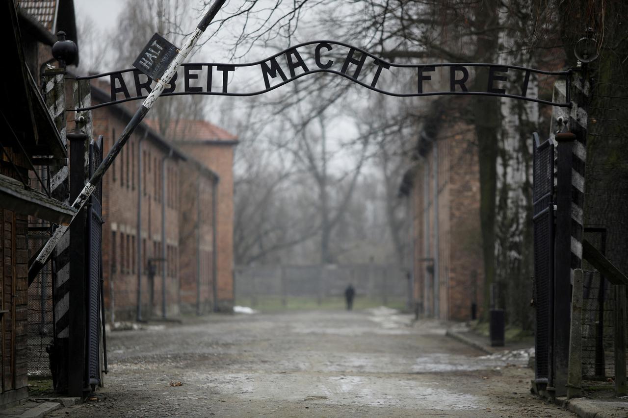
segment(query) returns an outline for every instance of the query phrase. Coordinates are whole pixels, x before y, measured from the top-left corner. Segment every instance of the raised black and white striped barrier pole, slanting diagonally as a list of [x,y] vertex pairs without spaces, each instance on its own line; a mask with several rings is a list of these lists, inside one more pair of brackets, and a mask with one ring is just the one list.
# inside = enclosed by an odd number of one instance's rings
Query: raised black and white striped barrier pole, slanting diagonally
[[[153,88],[153,91],[148,95],[148,97],[146,97],[143,104],[139,107],[138,111],[135,112],[133,118],[131,118],[131,121],[129,121],[127,126],[124,128],[124,131],[122,131],[121,136],[111,147],[109,153],[107,153],[107,156],[102,159],[102,163],[100,163],[98,168],[94,171],[94,175],[92,175],[89,181],[87,181],[83,190],[77,196],[74,203],[72,203],[72,208],[77,210],[77,213],[85,205],[85,202],[87,201],[87,199],[89,199],[89,196],[92,195],[96,188],[96,185],[99,183],[100,180],[102,180],[102,176],[104,176],[109,166],[111,166],[111,164],[114,162],[117,154],[120,153],[122,147],[124,147],[124,144],[126,144],[126,141],[129,139],[131,134],[133,134],[133,131],[135,131],[136,127],[138,127],[142,119],[144,119],[144,116],[148,114],[148,111],[151,109],[151,107],[153,107],[154,103],[160,97],[163,90],[168,87],[168,83],[170,83],[171,78],[175,75],[176,69],[181,65],[183,60],[187,58],[190,51],[192,51],[194,45],[196,45],[198,38],[200,38],[200,35],[202,35],[205,29],[207,29],[207,26],[211,23],[212,19],[214,19],[220,8],[222,8],[222,5],[225,3],[225,1],[226,0],[214,1],[207,13],[205,13],[205,16],[203,16],[203,19],[201,19],[200,23],[198,23],[197,28],[192,32],[190,36],[188,36],[188,38],[183,43],[183,46],[181,46],[181,49],[177,51],[175,58],[171,60],[171,62],[168,64],[168,67],[166,68],[165,72],[163,72],[163,75],[155,80],[157,84]],[[149,46],[150,45],[151,44],[149,44]],[[40,254],[37,256],[33,264],[31,264],[28,269],[28,277],[30,280],[31,277],[34,278],[41,271],[41,268],[44,264],[46,264],[46,261],[50,257],[52,250],[55,249],[55,246],[63,237],[65,231],[68,230],[70,224],[75,218],[76,215],[72,217],[67,225],[59,225],[53,235],[48,239],[48,242],[46,242],[46,245],[43,246]]]

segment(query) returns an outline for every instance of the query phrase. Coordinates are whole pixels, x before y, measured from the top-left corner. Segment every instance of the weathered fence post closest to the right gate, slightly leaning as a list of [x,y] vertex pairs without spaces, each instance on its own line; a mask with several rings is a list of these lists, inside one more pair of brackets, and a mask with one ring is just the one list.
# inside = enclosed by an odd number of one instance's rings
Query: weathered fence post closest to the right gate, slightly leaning
[[[567,399],[582,395],[582,269],[573,271],[571,292],[571,333],[569,343],[569,375],[567,377]],[[624,373],[625,374],[625,373]]]

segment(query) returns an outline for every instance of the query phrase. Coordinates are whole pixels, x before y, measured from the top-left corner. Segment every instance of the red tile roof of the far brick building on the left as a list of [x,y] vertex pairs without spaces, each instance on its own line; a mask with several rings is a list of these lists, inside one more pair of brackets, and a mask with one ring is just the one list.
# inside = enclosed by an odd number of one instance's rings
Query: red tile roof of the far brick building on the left
[[[156,132],[160,132],[159,121],[145,119],[144,122]],[[178,119],[171,121],[164,135],[171,141],[237,141],[237,136],[207,121]]]

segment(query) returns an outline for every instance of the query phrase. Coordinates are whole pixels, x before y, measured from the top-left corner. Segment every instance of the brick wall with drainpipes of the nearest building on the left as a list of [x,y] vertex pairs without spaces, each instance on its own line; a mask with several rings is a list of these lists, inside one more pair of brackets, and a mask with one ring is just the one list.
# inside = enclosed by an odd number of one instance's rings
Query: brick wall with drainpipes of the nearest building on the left
[[[126,126],[127,120],[114,107],[93,111],[94,136],[104,136],[105,153]],[[181,158],[168,157],[170,150],[145,129],[129,138],[103,178],[103,274],[105,305],[110,318],[134,319],[138,303],[138,272],[141,269],[143,317],[161,315],[162,270],[166,271],[166,314],[179,313],[178,291],[178,176]],[[139,169],[139,154],[142,169]],[[162,164],[166,193],[162,190]],[[141,184],[140,184],[141,183]],[[138,203],[141,194],[141,234],[138,234]],[[154,261],[154,281],[149,281],[148,261],[163,257],[161,208],[166,203],[166,260]],[[141,245],[141,250],[138,250]],[[151,302],[153,293],[153,306]],[[115,313],[111,316],[112,311]]]

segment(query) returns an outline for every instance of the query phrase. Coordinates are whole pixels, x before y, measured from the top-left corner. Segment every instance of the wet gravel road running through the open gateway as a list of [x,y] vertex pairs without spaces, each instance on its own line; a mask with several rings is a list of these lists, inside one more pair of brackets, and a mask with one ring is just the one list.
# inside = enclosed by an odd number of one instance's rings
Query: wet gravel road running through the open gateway
[[528,351],[483,355],[386,308],[214,315],[107,343],[100,399],[47,416],[575,416],[530,394]]

